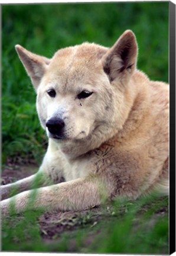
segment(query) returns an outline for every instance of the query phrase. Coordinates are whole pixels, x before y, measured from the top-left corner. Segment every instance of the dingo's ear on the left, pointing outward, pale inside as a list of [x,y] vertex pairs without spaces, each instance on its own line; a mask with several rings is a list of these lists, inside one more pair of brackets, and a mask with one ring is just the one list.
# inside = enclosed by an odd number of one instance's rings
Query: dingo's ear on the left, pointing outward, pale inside
[[41,78],[44,75],[45,69],[50,63],[50,59],[46,57],[35,55],[34,53],[29,52],[19,44],[15,46],[17,50],[19,59],[22,62],[25,70],[31,78],[34,88],[37,89],[38,85],[41,82]]

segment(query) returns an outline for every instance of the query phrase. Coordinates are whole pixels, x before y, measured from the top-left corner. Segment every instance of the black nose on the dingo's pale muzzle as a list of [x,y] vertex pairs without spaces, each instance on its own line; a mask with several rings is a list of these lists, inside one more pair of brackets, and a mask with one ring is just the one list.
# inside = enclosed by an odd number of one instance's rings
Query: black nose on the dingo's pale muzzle
[[63,127],[65,126],[64,120],[60,118],[49,119],[46,123],[48,131],[53,135],[61,136]]

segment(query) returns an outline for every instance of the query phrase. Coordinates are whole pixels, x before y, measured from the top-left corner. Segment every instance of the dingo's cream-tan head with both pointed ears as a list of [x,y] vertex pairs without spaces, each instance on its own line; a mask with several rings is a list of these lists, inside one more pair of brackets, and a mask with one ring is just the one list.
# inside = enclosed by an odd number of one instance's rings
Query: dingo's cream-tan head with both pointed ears
[[52,59],[19,45],[16,50],[37,91],[38,116],[48,137],[91,140],[93,134],[108,137],[122,127],[124,91],[136,67],[132,31],[110,49],[83,43],[58,50]]

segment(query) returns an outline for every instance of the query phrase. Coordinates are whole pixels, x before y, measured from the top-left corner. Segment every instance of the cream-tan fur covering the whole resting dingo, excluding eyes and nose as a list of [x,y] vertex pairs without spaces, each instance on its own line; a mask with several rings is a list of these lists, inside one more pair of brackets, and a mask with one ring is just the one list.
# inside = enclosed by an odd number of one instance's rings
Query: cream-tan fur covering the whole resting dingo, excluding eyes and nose
[[[51,60],[16,49],[37,92],[49,143],[37,174],[1,186],[2,213],[9,212],[11,199],[6,198],[12,188],[21,192],[12,197],[17,212],[27,206],[81,210],[152,190],[168,194],[169,86],[136,69],[132,31],[110,49],[83,43],[58,50]],[[48,89],[56,96],[50,97]],[[79,98],[83,91],[93,94]],[[46,127],[53,118],[64,121],[59,139]],[[65,182],[59,183],[61,177]],[[41,188],[34,197],[30,189],[36,178]]]

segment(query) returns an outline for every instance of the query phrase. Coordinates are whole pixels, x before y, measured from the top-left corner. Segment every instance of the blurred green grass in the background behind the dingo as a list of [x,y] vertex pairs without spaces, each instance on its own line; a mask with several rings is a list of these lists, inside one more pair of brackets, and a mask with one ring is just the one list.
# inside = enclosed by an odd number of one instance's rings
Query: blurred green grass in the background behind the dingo
[[26,156],[38,162],[47,139],[35,111],[35,92],[15,44],[52,57],[83,41],[112,46],[131,29],[139,46],[138,68],[168,82],[168,2],[2,6],[2,162]]

